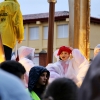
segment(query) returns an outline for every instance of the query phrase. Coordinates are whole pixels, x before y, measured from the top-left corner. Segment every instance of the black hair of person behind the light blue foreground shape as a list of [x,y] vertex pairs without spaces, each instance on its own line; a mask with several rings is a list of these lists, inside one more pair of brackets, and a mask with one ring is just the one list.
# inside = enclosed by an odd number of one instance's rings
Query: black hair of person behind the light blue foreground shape
[[21,76],[26,72],[24,66],[21,63],[13,60],[2,62],[0,64],[0,68],[11,74],[16,75],[19,78],[21,78]]

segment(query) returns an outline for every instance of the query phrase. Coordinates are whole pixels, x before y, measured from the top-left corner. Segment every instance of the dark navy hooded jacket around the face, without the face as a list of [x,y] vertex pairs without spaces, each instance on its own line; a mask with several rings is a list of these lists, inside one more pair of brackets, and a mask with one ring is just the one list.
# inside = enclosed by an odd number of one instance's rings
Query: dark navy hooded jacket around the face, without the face
[[48,84],[46,83],[45,86],[42,86],[41,88],[36,88],[37,81],[39,80],[39,77],[43,72],[47,72],[49,78],[50,73],[43,66],[34,66],[31,68],[29,72],[28,89],[30,92],[34,91],[40,98],[41,98],[41,94],[45,90],[46,85]]

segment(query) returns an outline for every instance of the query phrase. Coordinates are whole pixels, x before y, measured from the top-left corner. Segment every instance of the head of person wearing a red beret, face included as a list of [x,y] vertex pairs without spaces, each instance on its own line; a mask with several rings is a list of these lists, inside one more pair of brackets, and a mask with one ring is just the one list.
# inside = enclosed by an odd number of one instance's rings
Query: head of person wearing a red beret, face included
[[67,60],[70,57],[72,50],[69,47],[61,46],[59,48],[58,54],[61,60]]

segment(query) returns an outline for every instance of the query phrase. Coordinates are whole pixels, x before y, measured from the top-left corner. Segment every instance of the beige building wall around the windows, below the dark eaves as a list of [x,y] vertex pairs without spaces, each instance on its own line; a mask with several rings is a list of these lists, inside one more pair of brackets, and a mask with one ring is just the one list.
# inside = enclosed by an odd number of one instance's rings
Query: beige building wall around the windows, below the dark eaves
[[[67,21],[57,21],[54,23],[54,50],[58,49],[62,45],[69,46],[69,38],[57,38],[58,30],[57,25],[68,25]],[[38,40],[29,40],[29,28],[39,26],[39,39]],[[25,39],[21,44],[18,44],[18,47],[25,45],[29,47],[35,48],[35,53],[39,53],[42,50],[47,52],[47,39],[43,39],[44,26],[48,26],[48,23],[40,23],[40,24],[25,24]],[[69,31],[69,30],[66,30]],[[90,58],[93,57],[93,49],[94,47],[100,43],[100,24],[91,23],[90,25]],[[68,33],[69,34],[69,33]],[[56,61],[54,59],[54,61]]]

